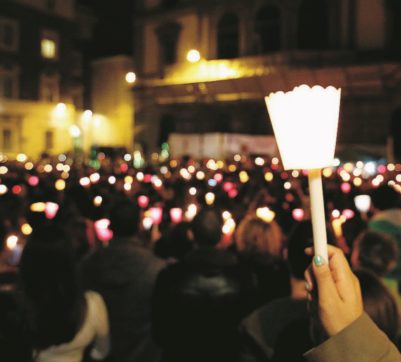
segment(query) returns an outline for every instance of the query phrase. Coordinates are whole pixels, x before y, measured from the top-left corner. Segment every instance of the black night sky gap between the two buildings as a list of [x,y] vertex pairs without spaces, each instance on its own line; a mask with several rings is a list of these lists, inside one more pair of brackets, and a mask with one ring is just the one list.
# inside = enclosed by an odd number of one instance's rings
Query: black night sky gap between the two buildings
[[134,0],[77,0],[93,10],[97,22],[89,55],[98,58],[132,54]]

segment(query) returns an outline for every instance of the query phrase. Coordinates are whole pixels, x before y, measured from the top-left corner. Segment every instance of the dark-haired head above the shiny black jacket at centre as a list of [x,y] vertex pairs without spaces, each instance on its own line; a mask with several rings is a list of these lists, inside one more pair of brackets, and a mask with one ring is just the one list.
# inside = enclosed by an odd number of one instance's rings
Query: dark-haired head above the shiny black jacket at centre
[[198,245],[217,245],[221,239],[223,217],[215,208],[202,209],[192,221],[192,232]]

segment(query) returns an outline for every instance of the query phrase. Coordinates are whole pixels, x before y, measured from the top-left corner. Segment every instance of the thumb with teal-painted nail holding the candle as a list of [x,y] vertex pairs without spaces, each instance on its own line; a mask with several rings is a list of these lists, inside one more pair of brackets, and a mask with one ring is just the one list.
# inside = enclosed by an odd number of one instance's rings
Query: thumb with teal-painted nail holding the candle
[[315,255],[313,257],[312,270],[316,279],[319,304],[324,305],[339,299],[336,284],[327,260],[319,255]]

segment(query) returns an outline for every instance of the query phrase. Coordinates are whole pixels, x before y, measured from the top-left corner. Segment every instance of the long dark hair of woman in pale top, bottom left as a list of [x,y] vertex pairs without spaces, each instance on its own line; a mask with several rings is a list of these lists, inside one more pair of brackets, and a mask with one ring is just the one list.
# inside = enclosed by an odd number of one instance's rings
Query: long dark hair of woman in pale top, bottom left
[[34,348],[71,341],[85,314],[74,250],[55,225],[34,229],[19,269],[26,317]]

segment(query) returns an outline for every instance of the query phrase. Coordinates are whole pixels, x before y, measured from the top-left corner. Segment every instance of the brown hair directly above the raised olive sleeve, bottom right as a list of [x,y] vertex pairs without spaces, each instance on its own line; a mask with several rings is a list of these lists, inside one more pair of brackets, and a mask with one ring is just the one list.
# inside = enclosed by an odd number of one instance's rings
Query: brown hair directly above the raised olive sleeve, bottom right
[[398,306],[390,290],[373,273],[367,270],[355,271],[362,290],[365,312],[376,325],[395,342],[398,336]]

